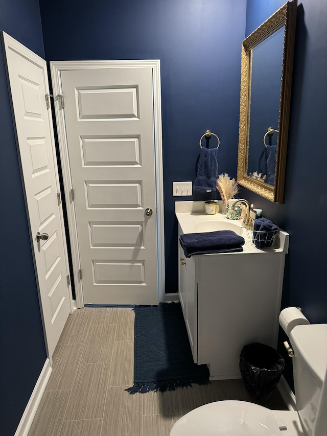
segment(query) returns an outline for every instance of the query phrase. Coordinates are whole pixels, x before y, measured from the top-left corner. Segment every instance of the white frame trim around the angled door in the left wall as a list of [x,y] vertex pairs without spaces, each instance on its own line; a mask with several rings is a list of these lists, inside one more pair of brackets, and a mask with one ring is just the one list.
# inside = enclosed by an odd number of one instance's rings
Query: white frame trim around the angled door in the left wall
[[[30,49],[25,47],[25,45],[22,45],[20,42],[18,42],[16,39],[11,37],[7,33],[5,33],[5,32],[1,32],[1,33],[2,33],[2,38],[1,39],[2,39],[3,47],[4,47],[4,56],[7,56],[7,53],[8,53],[9,50],[13,50],[14,52],[17,52],[22,57],[28,59],[30,62],[32,62],[35,65],[37,65],[39,68],[43,69],[44,73],[45,73],[45,80],[44,80],[45,90],[46,90],[46,93],[49,94],[50,93],[50,91],[49,91],[49,81],[48,81],[48,78],[46,77],[46,62],[45,62],[45,60],[42,59],[41,57],[39,57],[38,55],[36,55]],[[6,68],[7,68],[7,66],[6,66]],[[7,81],[8,81],[8,91],[9,91],[9,94],[10,94],[11,93],[11,88],[10,88],[8,71],[7,71]],[[12,105],[12,102],[11,102],[11,105]],[[34,271],[35,271],[35,277],[36,277],[36,286],[37,286],[37,291],[38,291],[38,296],[39,296],[39,305],[40,305],[40,311],[41,311],[41,319],[42,319],[42,326],[43,326],[45,348],[46,348],[46,354],[48,355],[48,357],[50,359],[50,363],[52,364],[52,356],[49,353],[48,340],[46,338],[46,332],[45,332],[45,327],[44,327],[44,316],[43,316],[43,309],[42,309],[41,296],[40,296],[41,295],[41,293],[40,293],[40,285],[39,285],[39,281],[38,281],[38,277],[37,277],[37,268],[36,268],[36,260],[35,260],[35,253],[34,253],[34,238],[35,238],[35,235],[32,235],[32,231],[31,231],[31,221],[30,221],[30,215],[29,215],[29,210],[28,210],[27,195],[26,195],[26,189],[25,189],[25,179],[24,179],[24,173],[23,173],[23,170],[22,170],[22,163],[21,163],[21,156],[20,156],[20,149],[19,149],[19,142],[18,142],[18,135],[17,135],[17,130],[16,130],[16,122],[15,122],[15,114],[14,114],[13,105],[12,105],[11,109],[12,109],[12,117],[13,117],[13,126],[14,126],[14,131],[15,131],[16,147],[17,147],[17,153],[18,153],[18,162],[19,162],[20,176],[21,176],[21,182],[22,182],[22,187],[23,187],[24,200],[25,200],[25,208],[26,208],[26,214],[27,214],[27,220],[28,220],[28,226],[29,226],[29,234],[30,234],[30,241],[31,241],[31,248],[32,248],[32,256],[33,256],[33,264],[34,264]],[[48,121],[49,121],[49,125],[50,125],[52,152],[53,152],[53,156],[54,156],[54,173],[55,173],[55,178],[56,178],[56,183],[57,183],[58,191],[60,192],[59,172],[58,172],[58,166],[57,166],[57,155],[56,155],[56,148],[55,148],[55,138],[54,138],[54,129],[53,129],[53,122],[52,122],[51,107],[47,111],[47,115],[48,115]],[[59,219],[60,219],[60,223],[61,223],[63,242],[64,242],[63,243],[64,262],[65,262],[65,265],[66,265],[66,271],[69,274],[68,251],[67,251],[67,244],[66,244],[65,224],[64,224],[62,208],[59,208]],[[70,308],[71,308],[71,313],[73,313],[74,312],[74,305],[73,305],[73,299],[72,299],[72,288],[71,288],[71,284],[70,283],[68,285],[68,295],[69,295],[69,304],[70,304]]]

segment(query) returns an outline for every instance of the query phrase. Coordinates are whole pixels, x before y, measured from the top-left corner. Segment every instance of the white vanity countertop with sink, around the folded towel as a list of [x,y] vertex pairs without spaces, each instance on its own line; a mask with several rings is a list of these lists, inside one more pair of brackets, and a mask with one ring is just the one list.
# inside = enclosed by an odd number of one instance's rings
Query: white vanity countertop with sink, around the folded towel
[[[221,209],[221,202],[220,202]],[[241,253],[230,253],[240,255],[245,253],[281,253],[288,252],[289,234],[279,229],[279,236],[275,237],[271,247],[262,249],[256,248],[252,242],[252,232],[248,232],[243,226],[243,219],[230,220],[221,213],[208,215],[204,212],[204,201],[176,201],[175,214],[183,234],[212,232],[214,230],[233,230],[243,236],[245,244]],[[217,228],[215,227],[217,225]],[[207,229],[207,230],[206,230]],[[213,255],[205,255],[213,256]],[[215,255],[214,255],[215,256]]]

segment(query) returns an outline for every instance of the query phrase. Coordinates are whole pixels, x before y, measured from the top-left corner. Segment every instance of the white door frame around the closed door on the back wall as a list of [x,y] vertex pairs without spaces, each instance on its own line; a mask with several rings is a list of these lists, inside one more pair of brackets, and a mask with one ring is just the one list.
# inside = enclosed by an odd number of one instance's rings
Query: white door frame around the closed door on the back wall
[[164,239],[164,184],[162,174],[162,131],[161,131],[161,94],[160,94],[160,60],[118,60],[118,61],[52,61],[50,70],[52,77],[59,154],[62,167],[63,184],[66,200],[69,238],[72,248],[73,273],[76,291],[76,306],[83,307],[83,289],[79,277],[80,260],[77,238],[75,210],[72,198],[72,175],[69,167],[67,136],[65,130],[64,111],[61,110],[62,95],[61,72],[67,70],[85,70],[99,68],[152,68],[153,78],[153,113],[154,113],[154,147],[156,177],[156,216],[157,216],[157,262],[159,302],[165,301],[165,239]]

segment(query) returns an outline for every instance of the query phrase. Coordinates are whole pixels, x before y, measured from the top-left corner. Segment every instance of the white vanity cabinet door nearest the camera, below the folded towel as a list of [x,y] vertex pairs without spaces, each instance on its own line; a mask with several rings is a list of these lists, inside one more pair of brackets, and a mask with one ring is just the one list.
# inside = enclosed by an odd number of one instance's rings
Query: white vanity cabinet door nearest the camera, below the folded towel
[[186,329],[189,334],[193,360],[196,363],[198,354],[198,284],[195,283],[189,266],[186,268]]

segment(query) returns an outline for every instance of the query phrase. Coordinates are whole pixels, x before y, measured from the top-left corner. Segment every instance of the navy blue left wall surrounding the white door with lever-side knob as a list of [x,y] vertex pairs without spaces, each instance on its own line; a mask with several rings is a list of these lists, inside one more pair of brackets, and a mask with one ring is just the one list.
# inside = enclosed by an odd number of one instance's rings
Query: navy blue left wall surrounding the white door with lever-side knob
[[[38,0],[1,0],[0,29],[44,57]],[[46,352],[2,54],[0,95],[0,434],[12,436]]]

